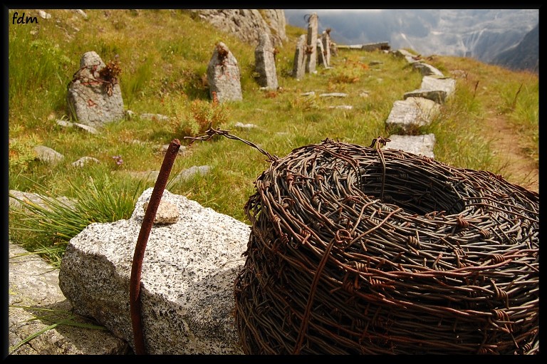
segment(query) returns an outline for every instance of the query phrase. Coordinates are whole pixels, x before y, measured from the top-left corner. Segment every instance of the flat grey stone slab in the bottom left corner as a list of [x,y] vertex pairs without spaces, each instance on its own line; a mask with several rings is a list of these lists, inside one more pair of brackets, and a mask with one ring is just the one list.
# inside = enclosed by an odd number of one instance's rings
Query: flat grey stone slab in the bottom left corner
[[[71,324],[93,324],[73,316],[71,303],[58,284],[58,269],[40,256],[9,242],[9,355],[112,355],[130,353],[125,340],[104,327],[83,328]],[[54,328],[49,326],[63,322]],[[22,343],[30,336],[35,338]],[[22,343],[22,344],[21,344]]]

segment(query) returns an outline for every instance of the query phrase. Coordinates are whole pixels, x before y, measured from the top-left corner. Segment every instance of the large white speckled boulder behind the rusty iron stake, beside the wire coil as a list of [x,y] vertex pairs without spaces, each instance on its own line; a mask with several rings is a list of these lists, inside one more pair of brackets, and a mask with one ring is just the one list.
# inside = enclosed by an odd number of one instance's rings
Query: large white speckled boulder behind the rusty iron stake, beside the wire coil
[[[75,312],[95,318],[133,349],[129,286],[132,258],[144,218],[138,199],[132,217],[90,224],[71,239],[59,286]],[[142,262],[141,303],[149,354],[242,354],[234,320],[234,280],[250,227],[165,190],[177,207],[175,224],[155,224]]]

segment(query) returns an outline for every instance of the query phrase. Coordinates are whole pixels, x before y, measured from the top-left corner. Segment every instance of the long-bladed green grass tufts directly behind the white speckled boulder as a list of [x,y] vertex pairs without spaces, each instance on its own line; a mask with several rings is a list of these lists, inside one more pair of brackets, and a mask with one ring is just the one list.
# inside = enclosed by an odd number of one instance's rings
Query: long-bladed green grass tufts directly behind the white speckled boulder
[[18,241],[58,268],[68,241],[89,224],[128,219],[142,194],[143,182],[115,180],[103,167],[95,167],[90,175],[95,175],[95,179],[80,175],[67,181],[76,204],[52,194],[35,181],[31,181],[31,187],[42,197],[43,204],[26,202],[10,194],[24,206],[10,209],[11,241]]

